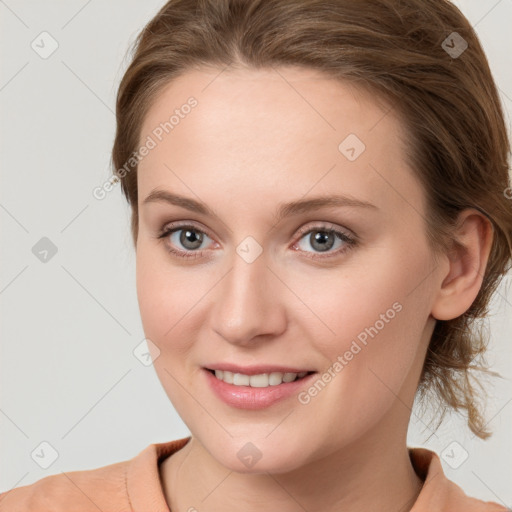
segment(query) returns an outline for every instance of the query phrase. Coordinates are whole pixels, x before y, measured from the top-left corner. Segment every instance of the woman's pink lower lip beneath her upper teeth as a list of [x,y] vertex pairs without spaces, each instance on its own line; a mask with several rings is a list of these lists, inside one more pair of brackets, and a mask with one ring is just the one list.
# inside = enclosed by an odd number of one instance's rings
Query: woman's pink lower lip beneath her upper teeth
[[239,409],[264,409],[270,405],[297,394],[301,388],[309,385],[316,373],[306,375],[293,382],[283,382],[277,386],[253,388],[251,386],[235,386],[217,379],[209,370],[203,368],[206,379],[213,392],[226,404]]

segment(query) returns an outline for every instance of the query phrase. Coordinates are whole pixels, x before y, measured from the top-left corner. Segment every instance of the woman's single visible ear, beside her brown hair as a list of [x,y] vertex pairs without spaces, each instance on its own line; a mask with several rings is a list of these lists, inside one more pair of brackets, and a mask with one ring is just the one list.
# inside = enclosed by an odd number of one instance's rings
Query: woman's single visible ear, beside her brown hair
[[489,219],[473,208],[459,214],[455,240],[449,254],[448,271],[432,306],[437,320],[451,320],[464,314],[482,286],[493,239]]

